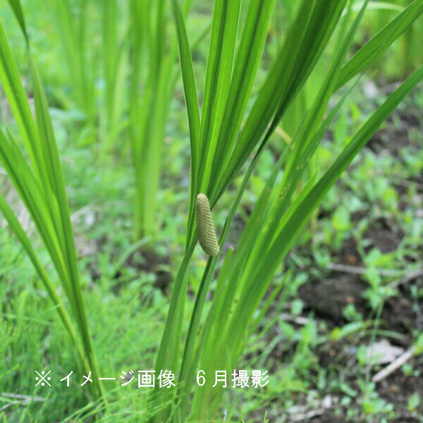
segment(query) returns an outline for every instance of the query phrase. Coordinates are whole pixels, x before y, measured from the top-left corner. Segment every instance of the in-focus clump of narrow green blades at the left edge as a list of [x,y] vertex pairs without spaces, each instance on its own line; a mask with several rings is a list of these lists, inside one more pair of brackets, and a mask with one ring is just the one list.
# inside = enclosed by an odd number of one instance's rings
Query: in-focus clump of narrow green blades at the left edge
[[[11,131],[4,133],[1,130],[0,161],[49,252],[72,314],[69,314],[68,307],[57,293],[56,286],[37,257],[32,241],[27,237],[13,209],[8,205],[3,195],[0,195],[0,210],[8,222],[9,228],[23,245],[40,280],[44,283],[47,293],[54,302],[59,317],[71,338],[75,352],[78,354],[80,366],[84,369],[92,369],[98,374],[97,361],[92,349],[85,306],[80,290],[75,243],[61,162],[47,100],[37,66],[32,60],[20,3],[11,0],[10,4],[16,13],[18,23],[27,42],[35,98],[35,118],[32,116],[13,54],[0,24],[0,82],[25,147],[25,149],[20,147]],[[28,156],[29,163],[25,154]],[[73,318],[71,318],[71,315]],[[102,385],[99,381],[94,384],[94,392],[102,393]]]

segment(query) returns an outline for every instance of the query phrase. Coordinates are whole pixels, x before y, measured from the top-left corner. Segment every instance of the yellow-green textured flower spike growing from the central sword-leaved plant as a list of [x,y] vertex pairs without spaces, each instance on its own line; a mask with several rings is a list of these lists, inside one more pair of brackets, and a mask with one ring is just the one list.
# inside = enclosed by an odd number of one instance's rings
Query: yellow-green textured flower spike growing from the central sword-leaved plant
[[195,200],[195,223],[197,224],[197,236],[203,251],[209,256],[219,254],[219,244],[214,232],[212,212],[207,195],[197,195]]

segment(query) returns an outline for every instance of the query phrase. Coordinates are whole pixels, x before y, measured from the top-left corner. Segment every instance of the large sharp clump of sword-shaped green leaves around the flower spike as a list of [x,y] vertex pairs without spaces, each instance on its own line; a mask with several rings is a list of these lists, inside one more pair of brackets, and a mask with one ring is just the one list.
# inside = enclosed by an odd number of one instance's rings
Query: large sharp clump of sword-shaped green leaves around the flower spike
[[[262,37],[265,32],[253,31],[252,28],[263,30],[266,27],[273,4],[270,1],[250,4],[245,29],[239,42],[238,52],[235,54],[236,25],[240,4],[234,1],[229,7],[223,2],[216,2],[200,122],[188,39],[182,14],[177,2],[173,1],[185,102],[190,123],[191,191],[185,256],[173,286],[166,327],[156,362],[157,370],[176,369],[179,366],[178,350],[182,333],[186,271],[197,242],[192,219],[195,197],[199,192],[205,192],[213,208],[235,174],[247,161],[250,153],[259,145],[228,213],[219,239],[221,246],[226,239],[228,228],[231,226],[252,169],[288,105],[293,101],[321,56],[336,23],[341,18],[345,4],[346,2],[339,1],[314,1],[312,5],[309,2],[302,3],[297,18],[288,31],[286,42],[276,57],[274,67],[269,71],[262,90],[250,113],[247,114],[245,125],[240,128],[247,99],[250,97],[252,81],[257,71],[259,53],[264,45]],[[228,252],[217,282],[211,311],[198,337],[197,333],[203,321],[202,312],[217,262],[216,257],[209,257],[195,300],[185,340],[183,360],[179,367],[178,380],[181,387],[178,389],[176,410],[173,411],[176,415],[173,418],[176,421],[184,421],[186,418],[192,380],[199,360],[209,369],[216,369],[216,366],[219,369],[232,369],[235,366],[245,346],[245,338],[250,333],[250,326],[255,327],[255,321],[253,321],[255,310],[259,307],[290,245],[353,157],[403,97],[423,77],[423,68],[420,68],[391,94],[391,97],[374,112],[343,148],[329,169],[319,179],[317,174],[309,176],[303,182],[300,195],[292,200],[293,192],[302,179],[305,166],[343,104],[341,99],[321,123],[331,94],[357,73],[367,69],[369,64],[387,47],[386,44],[393,41],[391,28],[386,29],[370,40],[353,59],[343,66],[366,6],[367,2],[364,3],[349,32],[338,45],[319,93],[295,135],[293,147],[289,151],[284,150],[276,171],[257,202],[255,213],[252,214],[243,233],[235,257],[232,257],[233,252]],[[417,1],[412,4],[413,13],[402,13],[396,20],[397,29],[410,25],[422,13],[422,6],[423,2]],[[247,60],[247,54],[257,61],[252,63]],[[231,68],[233,68],[232,72]],[[344,98],[347,94],[348,92]],[[286,155],[289,159],[283,169],[283,178],[280,185],[274,188],[277,170],[284,163]],[[245,240],[244,243],[243,240]],[[268,302],[262,312],[266,311],[266,306],[269,306]],[[170,395],[157,392],[156,396],[164,400]],[[212,418],[219,409],[220,403],[221,393],[216,393],[212,388],[196,391],[191,418]],[[170,409],[164,411],[156,417],[156,421],[166,420],[170,414]]]

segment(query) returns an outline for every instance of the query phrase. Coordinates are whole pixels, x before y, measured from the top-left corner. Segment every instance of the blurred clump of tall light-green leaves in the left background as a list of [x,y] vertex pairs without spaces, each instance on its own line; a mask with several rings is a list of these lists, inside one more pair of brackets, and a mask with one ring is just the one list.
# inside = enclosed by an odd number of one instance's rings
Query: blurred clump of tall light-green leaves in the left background
[[[185,2],[186,8],[189,4]],[[51,11],[76,103],[86,115],[83,131],[94,134],[90,140],[98,138],[99,157],[108,165],[110,154],[128,152],[121,140],[129,141],[135,176],[134,238],[152,236],[157,231],[166,119],[177,71],[176,42],[168,43],[166,37],[166,1],[131,0],[124,5],[117,0],[60,0],[52,2]]]

